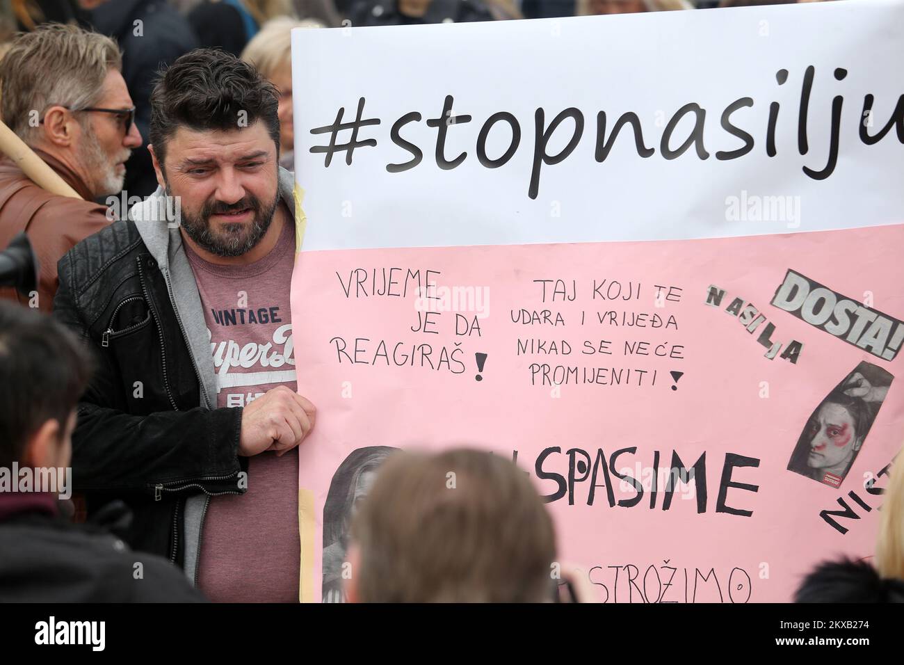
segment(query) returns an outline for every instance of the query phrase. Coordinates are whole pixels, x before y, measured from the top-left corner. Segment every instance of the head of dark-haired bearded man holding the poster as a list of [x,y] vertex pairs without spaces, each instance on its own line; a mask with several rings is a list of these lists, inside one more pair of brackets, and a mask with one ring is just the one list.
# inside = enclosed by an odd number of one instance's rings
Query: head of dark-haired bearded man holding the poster
[[248,255],[278,204],[277,90],[231,53],[197,49],[151,94],[157,182],[180,197],[181,229],[204,258]]

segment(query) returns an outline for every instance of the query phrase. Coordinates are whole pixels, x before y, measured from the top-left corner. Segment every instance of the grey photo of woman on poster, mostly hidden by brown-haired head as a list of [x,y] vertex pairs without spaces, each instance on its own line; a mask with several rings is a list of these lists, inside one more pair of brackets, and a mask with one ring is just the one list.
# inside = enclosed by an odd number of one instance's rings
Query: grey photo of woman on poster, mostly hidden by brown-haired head
[[322,603],[344,603],[343,564],[348,530],[361,501],[367,497],[377,468],[391,446],[368,446],[349,453],[336,472],[324,504],[324,584]]

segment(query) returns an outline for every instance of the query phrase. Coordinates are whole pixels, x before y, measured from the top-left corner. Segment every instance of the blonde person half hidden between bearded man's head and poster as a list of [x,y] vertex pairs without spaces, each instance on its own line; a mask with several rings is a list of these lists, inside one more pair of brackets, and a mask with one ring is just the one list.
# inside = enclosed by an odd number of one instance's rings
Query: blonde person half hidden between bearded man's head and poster
[[292,131],[292,29],[322,28],[316,21],[297,21],[283,16],[261,27],[241,59],[253,64],[279,92],[279,166],[295,170],[295,135]]

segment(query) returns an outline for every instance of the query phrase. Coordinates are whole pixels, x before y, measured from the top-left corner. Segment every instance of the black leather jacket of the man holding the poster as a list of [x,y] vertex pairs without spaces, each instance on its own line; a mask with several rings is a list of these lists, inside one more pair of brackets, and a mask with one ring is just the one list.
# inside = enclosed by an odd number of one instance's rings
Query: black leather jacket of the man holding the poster
[[242,410],[202,407],[172,284],[134,222],[80,242],[59,273],[53,316],[96,359],[72,436],[73,487],[89,516],[125,501],[134,513],[128,544],[183,565],[185,497],[244,491]]

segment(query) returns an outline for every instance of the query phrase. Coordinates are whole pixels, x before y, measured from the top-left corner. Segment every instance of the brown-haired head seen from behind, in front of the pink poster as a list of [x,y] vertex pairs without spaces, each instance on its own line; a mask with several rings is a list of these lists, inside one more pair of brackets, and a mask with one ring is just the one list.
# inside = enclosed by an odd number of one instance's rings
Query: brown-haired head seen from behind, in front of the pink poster
[[540,603],[556,582],[552,521],[531,480],[489,452],[402,451],[352,522],[352,603]]

